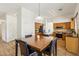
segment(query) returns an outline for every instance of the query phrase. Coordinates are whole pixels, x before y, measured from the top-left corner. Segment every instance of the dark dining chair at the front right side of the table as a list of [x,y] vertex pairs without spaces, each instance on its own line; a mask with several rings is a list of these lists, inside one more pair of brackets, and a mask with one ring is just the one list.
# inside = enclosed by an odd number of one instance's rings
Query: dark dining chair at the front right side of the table
[[49,44],[49,46],[44,50],[44,55],[47,54],[49,56],[51,56],[52,52],[53,52],[53,55],[56,55],[56,50],[57,47],[57,38],[55,38],[54,40],[51,41],[51,43]]

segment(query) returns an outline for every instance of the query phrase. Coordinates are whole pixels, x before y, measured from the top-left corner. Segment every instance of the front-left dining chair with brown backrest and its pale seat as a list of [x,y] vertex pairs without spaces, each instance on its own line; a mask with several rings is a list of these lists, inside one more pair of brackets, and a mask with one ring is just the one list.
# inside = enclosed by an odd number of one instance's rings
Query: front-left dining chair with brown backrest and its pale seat
[[37,52],[32,52],[29,53],[29,48],[26,42],[22,41],[22,40],[18,40],[18,44],[20,46],[20,51],[21,51],[21,55],[22,56],[37,56]]

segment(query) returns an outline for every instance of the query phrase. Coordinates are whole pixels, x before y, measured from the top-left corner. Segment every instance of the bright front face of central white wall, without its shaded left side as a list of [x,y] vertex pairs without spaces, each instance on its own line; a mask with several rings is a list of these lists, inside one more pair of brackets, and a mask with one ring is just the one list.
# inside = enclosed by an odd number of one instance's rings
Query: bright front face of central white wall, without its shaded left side
[[34,34],[34,14],[30,10],[22,8],[22,37]]

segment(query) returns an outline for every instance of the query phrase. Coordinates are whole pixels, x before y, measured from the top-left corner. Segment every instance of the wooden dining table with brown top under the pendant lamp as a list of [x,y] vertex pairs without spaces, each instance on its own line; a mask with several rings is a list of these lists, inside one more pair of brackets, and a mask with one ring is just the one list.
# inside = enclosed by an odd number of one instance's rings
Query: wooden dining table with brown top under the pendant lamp
[[[29,37],[29,38],[20,38],[19,40],[22,40],[24,42],[27,42],[27,44],[35,49],[39,55],[42,55],[42,51],[51,43],[52,40],[55,40],[54,39],[55,37],[53,36],[49,36],[49,37],[46,37],[46,36],[42,36],[41,38],[37,38],[35,36],[32,36],[32,37]],[[16,44],[16,55],[18,53],[18,49],[17,49],[17,44]],[[56,49],[55,49],[55,55],[57,55],[57,43],[55,45]]]

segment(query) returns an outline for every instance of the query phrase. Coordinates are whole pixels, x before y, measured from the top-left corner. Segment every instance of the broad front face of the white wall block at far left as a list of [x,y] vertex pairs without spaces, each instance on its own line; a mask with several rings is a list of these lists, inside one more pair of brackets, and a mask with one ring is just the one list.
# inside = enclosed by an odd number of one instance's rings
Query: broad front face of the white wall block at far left
[[17,38],[17,18],[16,15],[6,15],[7,42]]

